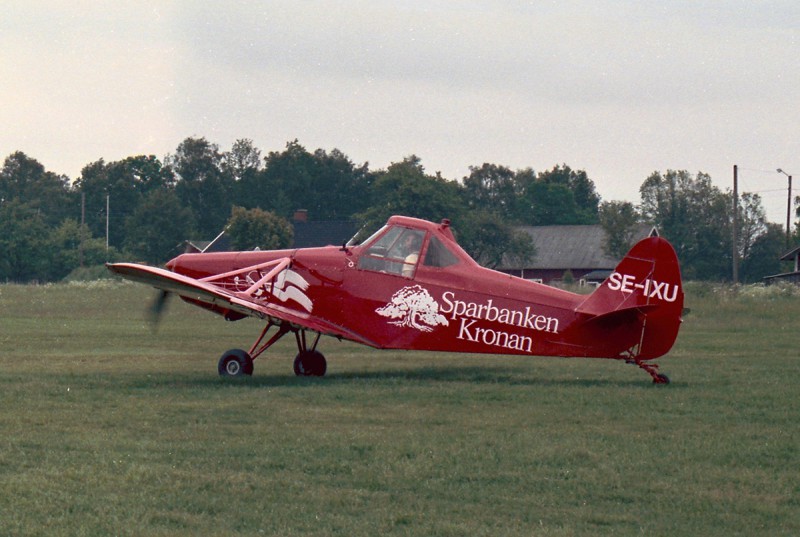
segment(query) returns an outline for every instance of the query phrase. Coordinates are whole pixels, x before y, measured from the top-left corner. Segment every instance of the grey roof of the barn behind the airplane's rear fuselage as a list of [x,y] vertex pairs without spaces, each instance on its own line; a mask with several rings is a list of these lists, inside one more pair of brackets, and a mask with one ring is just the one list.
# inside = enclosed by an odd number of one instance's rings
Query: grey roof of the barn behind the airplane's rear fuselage
[[[619,263],[619,259],[603,251],[606,232],[600,225],[520,226],[517,229],[531,237],[536,255],[525,267],[503,263],[501,269],[611,270]],[[634,238],[646,237],[650,231],[650,226],[642,225],[636,229]]]

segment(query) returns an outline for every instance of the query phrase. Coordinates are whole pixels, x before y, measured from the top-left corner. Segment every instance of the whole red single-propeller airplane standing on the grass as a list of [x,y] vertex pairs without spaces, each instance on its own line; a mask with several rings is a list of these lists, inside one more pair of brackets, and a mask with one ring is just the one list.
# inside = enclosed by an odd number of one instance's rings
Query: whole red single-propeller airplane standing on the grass
[[448,220],[404,216],[359,246],[183,254],[169,270],[108,268],[229,321],[266,321],[250,350],[222,355],[223,376],[252,375],[253,360],[293,333],[297,375],[325,374],[317,350],[324,334],[380,349],[611,358],[666,384],[650,360],[672,347],[683,310],[678,259],[663,238],[637,243],[602,285],[580,295],[483,268]]

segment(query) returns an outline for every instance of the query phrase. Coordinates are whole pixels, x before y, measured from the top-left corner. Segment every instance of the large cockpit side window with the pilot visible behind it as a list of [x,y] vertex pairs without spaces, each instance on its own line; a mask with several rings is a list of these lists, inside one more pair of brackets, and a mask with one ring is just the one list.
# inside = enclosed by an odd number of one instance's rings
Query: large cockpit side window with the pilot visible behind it
[[423,231],[393,227],[367,247],[358,260],[358,268],[412,278],[424,238]]

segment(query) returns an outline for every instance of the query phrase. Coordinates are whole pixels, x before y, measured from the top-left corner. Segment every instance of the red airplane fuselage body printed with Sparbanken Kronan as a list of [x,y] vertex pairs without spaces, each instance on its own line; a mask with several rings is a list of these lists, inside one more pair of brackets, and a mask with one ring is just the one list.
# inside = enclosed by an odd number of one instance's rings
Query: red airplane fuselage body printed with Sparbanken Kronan
[[[324,319],[378,348],[598,356],[618,355],[636,344],[640,334],[635,331],[609,340],[599,329],[574,330],[587,317],[576,312],[584,295],[480,267],[439,226],[430,224],[424,231],[424,244],[430,247],[438,233],[454,262],[441,267],[420,260],[413,276],[403,275],[367,263],[370,245],[365,244],[184,254],[168,268],[202,279],[288,257],[284,277],[265,285],[256,300]],[[261,276],[258,271],[237,276],[225,287],[241,292]]]

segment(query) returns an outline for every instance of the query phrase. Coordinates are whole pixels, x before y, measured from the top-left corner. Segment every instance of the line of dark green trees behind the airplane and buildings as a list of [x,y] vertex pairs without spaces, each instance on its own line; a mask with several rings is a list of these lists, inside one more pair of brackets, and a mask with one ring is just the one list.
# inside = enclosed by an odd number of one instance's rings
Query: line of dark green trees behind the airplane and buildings
[[[687,279],[730,278],[732,197],[706,174],[654,172],[634,205],[603,202],[586,172],[566,164],[538,173],[488,163],[469,171],[456,181],[428,173],[415,155],[372,170],[297,140],[262,156],[252,140],[222,151],[191,137],[163,159],[100,159],[72,181],[16,151],[0,170],[0,281],[55,281],[120,259],[159,264],[186,239],[211,239],[226,227],[239,249],[288,247],[297,209],[310,220],[353,220],[365,230],[393,214],[446,217],[462,246],[490,267],[504,256],[535,256],[521,225],[599,223],[608,231],[606,250],[621,256],[647,223],[673,242]],[[778,272],[784,235],[766,222],[757,195],[742,196],[739,221],[742,277]]]

